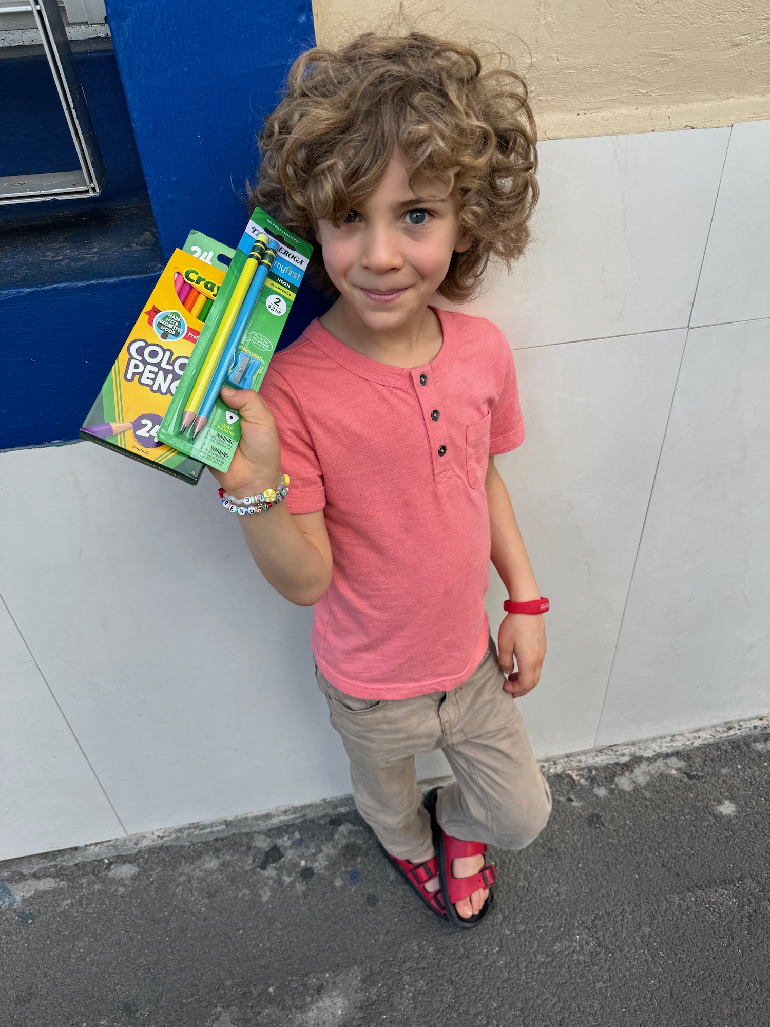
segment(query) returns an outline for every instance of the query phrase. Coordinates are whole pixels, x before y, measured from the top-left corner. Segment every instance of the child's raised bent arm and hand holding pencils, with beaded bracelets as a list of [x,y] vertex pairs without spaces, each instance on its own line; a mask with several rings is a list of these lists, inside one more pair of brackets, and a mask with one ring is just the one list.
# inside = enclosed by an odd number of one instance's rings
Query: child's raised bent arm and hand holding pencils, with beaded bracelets
[[[223,389],[222,398],[240,413],[240,443],[227,473],[213,471],[233,496],[259,495],[280,480],[280,443],[265,401],[251,389]],[[291,488],[291,483],[290,483]],[[317,603],[332,582],[332,549],[323,512],[292,515],[285,502],[265,514],[239,517],[255,563],[284,599]]]

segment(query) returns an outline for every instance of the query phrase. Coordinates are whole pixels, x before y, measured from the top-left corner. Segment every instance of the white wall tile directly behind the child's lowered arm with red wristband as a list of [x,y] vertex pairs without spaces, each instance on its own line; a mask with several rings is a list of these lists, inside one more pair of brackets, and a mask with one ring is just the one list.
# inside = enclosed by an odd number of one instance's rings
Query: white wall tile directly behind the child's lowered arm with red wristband
[[[541,754],[593,746],[686,334],[516,353],[529,438],[496,463],[552,604],[544,687],[522,701]],[[508,597],[492,580],[496,631]]]

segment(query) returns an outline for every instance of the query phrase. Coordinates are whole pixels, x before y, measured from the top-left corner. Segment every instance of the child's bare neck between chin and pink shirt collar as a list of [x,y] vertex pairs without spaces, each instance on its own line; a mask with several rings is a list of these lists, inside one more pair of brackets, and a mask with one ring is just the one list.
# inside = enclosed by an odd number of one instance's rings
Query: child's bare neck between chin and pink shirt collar
[[320,322],[350,349],[392,368],[419,368],[430,364],[441,348],[441,324],[428,306],[415,311],[397,328],[381,330],[367,325],[340,297]]

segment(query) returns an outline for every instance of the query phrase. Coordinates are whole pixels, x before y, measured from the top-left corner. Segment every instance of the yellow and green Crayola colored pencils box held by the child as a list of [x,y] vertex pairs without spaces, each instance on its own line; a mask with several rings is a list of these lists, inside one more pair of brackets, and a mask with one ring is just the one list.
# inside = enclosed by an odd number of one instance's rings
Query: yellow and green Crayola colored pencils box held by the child
[[234,250],[190,232],[175,250],[80,429],[80,438],[197,485],[203,463],[158,439]]

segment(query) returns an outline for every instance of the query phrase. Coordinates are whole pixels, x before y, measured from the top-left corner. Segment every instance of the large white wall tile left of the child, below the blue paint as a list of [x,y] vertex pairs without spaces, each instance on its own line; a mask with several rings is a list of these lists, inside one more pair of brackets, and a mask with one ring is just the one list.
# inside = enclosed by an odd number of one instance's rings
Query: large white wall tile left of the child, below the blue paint
[[[126,831],[350,790],[312,611],[262,579],[214,479],[191,488],[88,443],[0,467],[0,594]],[[41,483],[49,501],[20,518]]]

